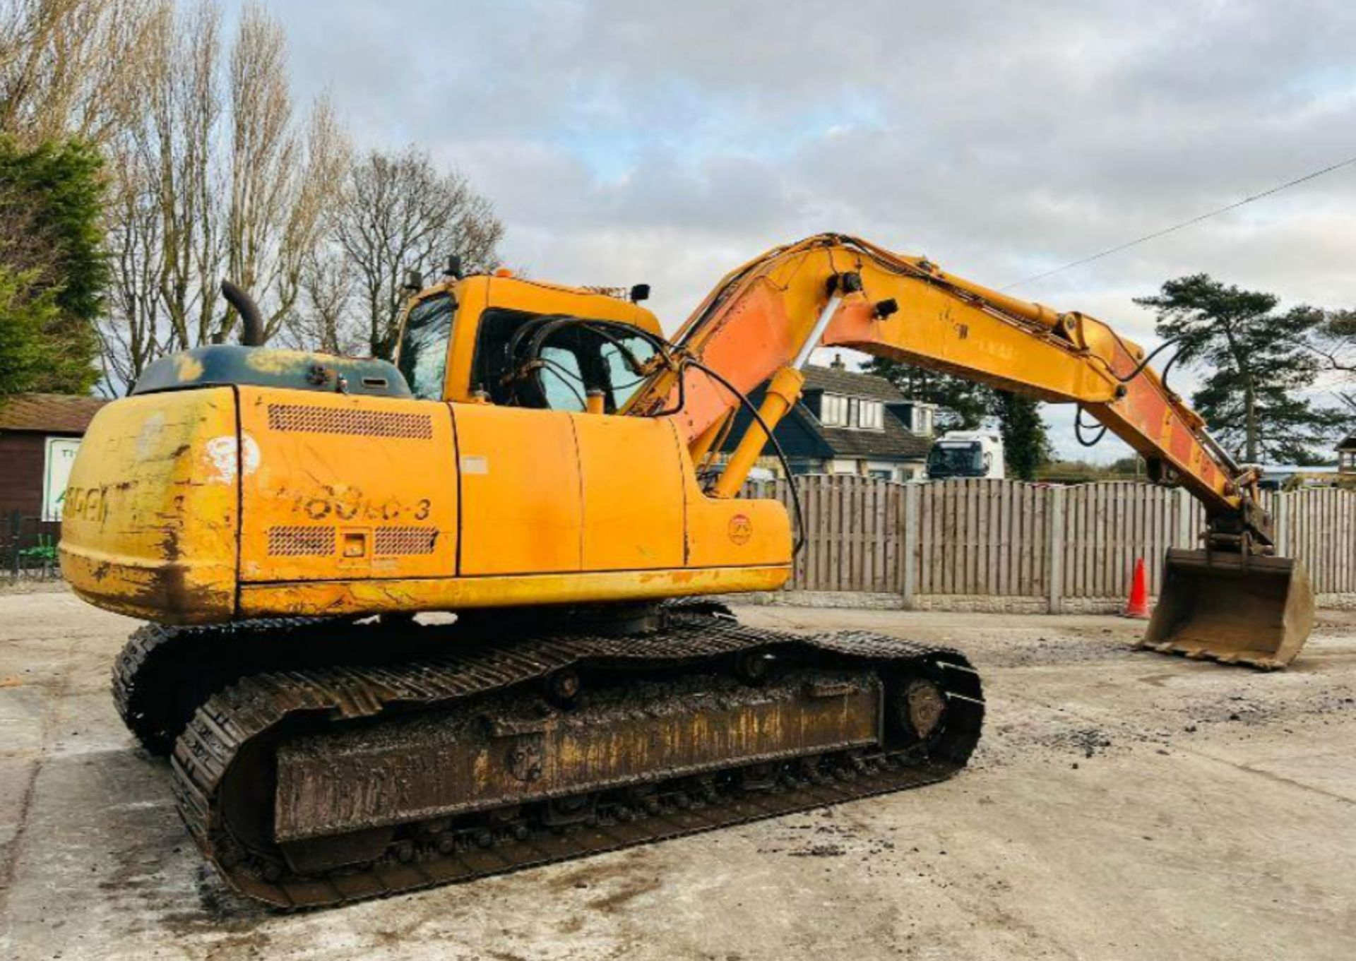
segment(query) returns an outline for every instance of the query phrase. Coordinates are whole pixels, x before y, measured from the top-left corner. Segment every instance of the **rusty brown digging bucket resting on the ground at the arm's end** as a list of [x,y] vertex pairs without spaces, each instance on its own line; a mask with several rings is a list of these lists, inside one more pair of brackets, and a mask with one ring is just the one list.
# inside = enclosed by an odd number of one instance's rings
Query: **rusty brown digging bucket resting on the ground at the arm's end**
[[1174,549],[1136,647],[1275,671],[1295,659],[1313,626],[1314,591],[1300,561]]

